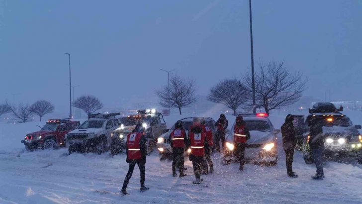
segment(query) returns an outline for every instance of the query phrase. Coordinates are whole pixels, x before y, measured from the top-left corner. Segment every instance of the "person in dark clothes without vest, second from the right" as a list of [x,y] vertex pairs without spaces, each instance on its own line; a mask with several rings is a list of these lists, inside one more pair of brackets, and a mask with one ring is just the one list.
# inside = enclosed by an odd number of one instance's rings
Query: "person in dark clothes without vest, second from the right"
[[295,130],[293,125],[294,116],[288,114],[285,117],[285,122],[281,125],[281,136],[283,140],[283,149],[285,151],[285,164],[286,164],[286,173],[288,177],[296,178],[296,175],[292,169],[293,157],[294,157],[294,148],[296,145]]

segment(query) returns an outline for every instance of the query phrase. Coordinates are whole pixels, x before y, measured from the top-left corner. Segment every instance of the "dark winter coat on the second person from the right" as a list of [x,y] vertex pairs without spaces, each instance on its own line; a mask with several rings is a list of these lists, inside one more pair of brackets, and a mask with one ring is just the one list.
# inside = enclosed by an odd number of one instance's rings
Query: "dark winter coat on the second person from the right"
[[281,137],[283,140],[283,149],[294,149],[296,145],[295,130],[292,118],[286,118],[285,123],[281,125]]

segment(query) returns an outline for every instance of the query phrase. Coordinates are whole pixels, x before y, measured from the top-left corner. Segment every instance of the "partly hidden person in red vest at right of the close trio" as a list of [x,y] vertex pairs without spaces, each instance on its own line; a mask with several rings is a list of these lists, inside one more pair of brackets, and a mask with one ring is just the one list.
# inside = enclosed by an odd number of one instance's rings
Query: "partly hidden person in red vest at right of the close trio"
[[209,166],[210,166],[210,173],[214,173],[214,165],[212,164],[212,160],[211,160],[211,149],[214,146],[213,136],[212,136],[212,131],[211,131],[210,127],[208,127],[206,125],[205,119],[201,118],[200,121],[201,121],[201,127],[202,127],[203,131],[206,132],[206,139],[207,139],[207,142],[205,143],[205,160],[203,162],[202,173],[207,175],[209,173],[207,163],[209,163]]

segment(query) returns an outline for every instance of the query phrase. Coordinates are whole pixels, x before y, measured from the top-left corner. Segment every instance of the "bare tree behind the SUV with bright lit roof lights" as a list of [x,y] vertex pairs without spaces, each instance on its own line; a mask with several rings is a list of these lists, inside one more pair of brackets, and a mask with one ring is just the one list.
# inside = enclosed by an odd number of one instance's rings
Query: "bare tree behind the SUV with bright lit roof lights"
[[195,93],[194,80],[185,80],[174,75],[170,79],[170,88],[165,86],[157,91],[156,95],[160,98],[162,106],[179,108],[181,115],[182,107],[187,107],[197,101]]

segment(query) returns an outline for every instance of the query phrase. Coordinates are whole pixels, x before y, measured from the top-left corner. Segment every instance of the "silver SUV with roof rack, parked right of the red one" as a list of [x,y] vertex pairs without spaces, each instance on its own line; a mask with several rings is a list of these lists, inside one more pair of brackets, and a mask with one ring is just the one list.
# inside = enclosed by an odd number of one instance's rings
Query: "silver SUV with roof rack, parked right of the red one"
[[101,154],[107,151],[111,144],[112,131],[119,127],[116,115],[120,113],[109,114],[90,114],[88,120],[82,125],[67,134],[69,142],[68,152],[89,152],[95,151]]

